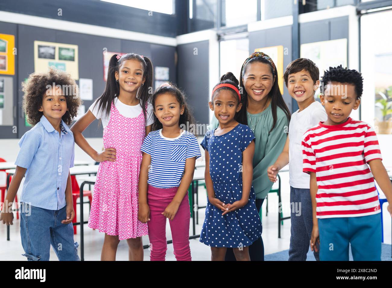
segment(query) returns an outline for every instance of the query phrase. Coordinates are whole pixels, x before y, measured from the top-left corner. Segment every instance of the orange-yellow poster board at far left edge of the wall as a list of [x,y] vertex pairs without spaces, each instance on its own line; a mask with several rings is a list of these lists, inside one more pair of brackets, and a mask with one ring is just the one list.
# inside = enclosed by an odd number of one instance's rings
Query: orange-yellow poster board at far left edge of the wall
[[15,36],[0,34],[0,74],[15,75]]

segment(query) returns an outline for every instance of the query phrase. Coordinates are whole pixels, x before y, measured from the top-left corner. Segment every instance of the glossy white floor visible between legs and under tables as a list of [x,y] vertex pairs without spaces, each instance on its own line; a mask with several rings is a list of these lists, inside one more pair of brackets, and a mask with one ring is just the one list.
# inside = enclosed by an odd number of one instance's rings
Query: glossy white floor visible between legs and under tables
[[[281,174],[281,182],[282,182],[282,202],[283,202],[283,216],[289,216],[290,211],[290,187],[288,184],[288,173]],[[205,206],[206,202],[206,193],[205,190],[200,187],[199,188],[199,205]],[[282,250],[286,250],[289,248],[290,244],[290,220],[285,220],[283,226],[281,226],[281,238],[278,238],[278,196],[276,194],[269,195],[269,212],[268,216],[265,216],[266,211],[266,201],[263,203],[262,211],[263,211],[263,242],[265,247],[265,254],[271,254],[275,252],[279,252]],[[85,204],[85,219],[88,218],[88,204]],[[386,207],[386,206],[385,206]],[[79,206],[77,207],[79,209]],[[387,214],[387,209],[384,209],[384,238],[385,243],[391,243],[391,218]],[[77,211],[78,212],[78,211]],[[204,220],[204,209],[199,211],[199,225],[196,226],[196,232],[200,232],[201,226]],[[20,243],[20,230],[19,230],[20,221],[14,221],[14,225],[10,228],[10,238],[11,241],[6,240],[6,226],[0,225],[0,260],[25,260],[26,258],[21,254],[24,253],[22,245]],[[85,261],[97,261],[100,260],[101,249],[103,244],[103,233],[100,233],[96,230],[92,230],[85,227],[84,232],[84,256]],[[167,239],[171,239],[171,232],[169,223],[167,223],[166,227],[167,231]],[[80,228],[78,227],[78,234],[75,235],[75,241],[80,242]],[[190,227],[190,233],[192,233],[192,222]],[[143,244],[146,245],[149,243],[148,236],[143,237]],[[191,254],[192,260],[194,261],[208,261],[211,259],[211,251],[210,248],[199,242],[198,239],[190,240],[191,246]],[[80,250],[79,250],[80,254]],[[121,241],[118,245],[117,250],[117,260],[128,260],[128,247],[126,241]],[[144,250],[144,260],[148,261],[149,250]],[[51,260],[57,261],[56,254],[51,249]],[[174,261],[173,255],[173,245],[169,244],[167,247],[167,255],[166,260]]]

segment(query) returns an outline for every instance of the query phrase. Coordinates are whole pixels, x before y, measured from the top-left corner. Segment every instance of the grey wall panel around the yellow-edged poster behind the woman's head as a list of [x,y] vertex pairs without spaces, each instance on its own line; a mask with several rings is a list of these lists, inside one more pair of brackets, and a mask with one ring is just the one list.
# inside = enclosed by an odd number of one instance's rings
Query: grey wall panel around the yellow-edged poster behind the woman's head
[[[249,33],[249,53],[253,53],[256,48],[277,45],[283,45],[283,51],[288,51],[288,53],[283,52],[284,72],[287,65],[292,61],[292,26],[283,26]],[[278,75],[278,77],[283,77],[283,75]],[[292,111],[292,98],[289,95],[286,86],[283,87],[283,99],[289,107],[289,110]]]

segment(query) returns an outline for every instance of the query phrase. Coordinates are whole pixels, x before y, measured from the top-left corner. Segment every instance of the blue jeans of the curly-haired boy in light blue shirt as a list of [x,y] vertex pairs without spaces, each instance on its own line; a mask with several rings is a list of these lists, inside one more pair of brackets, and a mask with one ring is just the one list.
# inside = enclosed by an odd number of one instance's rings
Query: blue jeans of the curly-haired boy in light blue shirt
[[29,261],[49,261],[52,245],[60,261],[79,261],[78,242],[74,242],[73,225],[62,224],[67,218],[66,206],[48,210],[21,203],[20,238]]

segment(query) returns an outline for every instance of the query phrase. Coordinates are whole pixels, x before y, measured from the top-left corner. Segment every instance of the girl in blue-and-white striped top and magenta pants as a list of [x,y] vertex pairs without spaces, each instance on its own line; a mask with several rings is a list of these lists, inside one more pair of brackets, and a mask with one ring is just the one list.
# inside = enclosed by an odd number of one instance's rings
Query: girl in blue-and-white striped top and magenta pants
[[153,131],[141,148],[138,218],[142,223],[148,222],[151,261],[165,260],[166,218],[176,259],[190,261],[188,187],[201,153],[196,137],[180,125],[192,123],[193,117],[184,95],[173,85],[158,88],[152,95],[152,106]]

